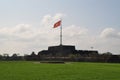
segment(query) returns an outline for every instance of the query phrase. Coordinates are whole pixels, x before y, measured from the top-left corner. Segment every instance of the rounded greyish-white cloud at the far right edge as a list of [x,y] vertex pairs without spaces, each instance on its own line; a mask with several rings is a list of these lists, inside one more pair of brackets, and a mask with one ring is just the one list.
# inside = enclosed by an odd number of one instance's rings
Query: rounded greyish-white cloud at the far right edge
[[105,28],[101,31],[100,35],[94,36],[96,41],[94,46],[99,52],[112,52],[114,54],[120,54],[120,35],[114,28]]

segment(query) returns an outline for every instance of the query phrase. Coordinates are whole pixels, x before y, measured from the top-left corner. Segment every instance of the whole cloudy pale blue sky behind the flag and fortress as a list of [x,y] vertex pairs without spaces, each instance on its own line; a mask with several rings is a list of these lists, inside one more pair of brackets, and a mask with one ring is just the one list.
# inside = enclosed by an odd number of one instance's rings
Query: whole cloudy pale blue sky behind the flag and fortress
[[[0,54],[36,54],[63,44],[120,54],[120,0],[0,0]],[[93,47],[93,49],[91,49]]]

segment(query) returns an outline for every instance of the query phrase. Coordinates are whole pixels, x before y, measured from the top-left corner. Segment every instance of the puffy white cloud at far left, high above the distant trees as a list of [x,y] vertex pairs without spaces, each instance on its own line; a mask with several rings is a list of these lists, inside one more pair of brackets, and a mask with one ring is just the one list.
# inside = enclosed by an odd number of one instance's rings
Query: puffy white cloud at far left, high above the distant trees
[[15,27],[0,28],[0,36],[4,38],[30,38],[35,34],[34,28],[28,24],[19,24]]

